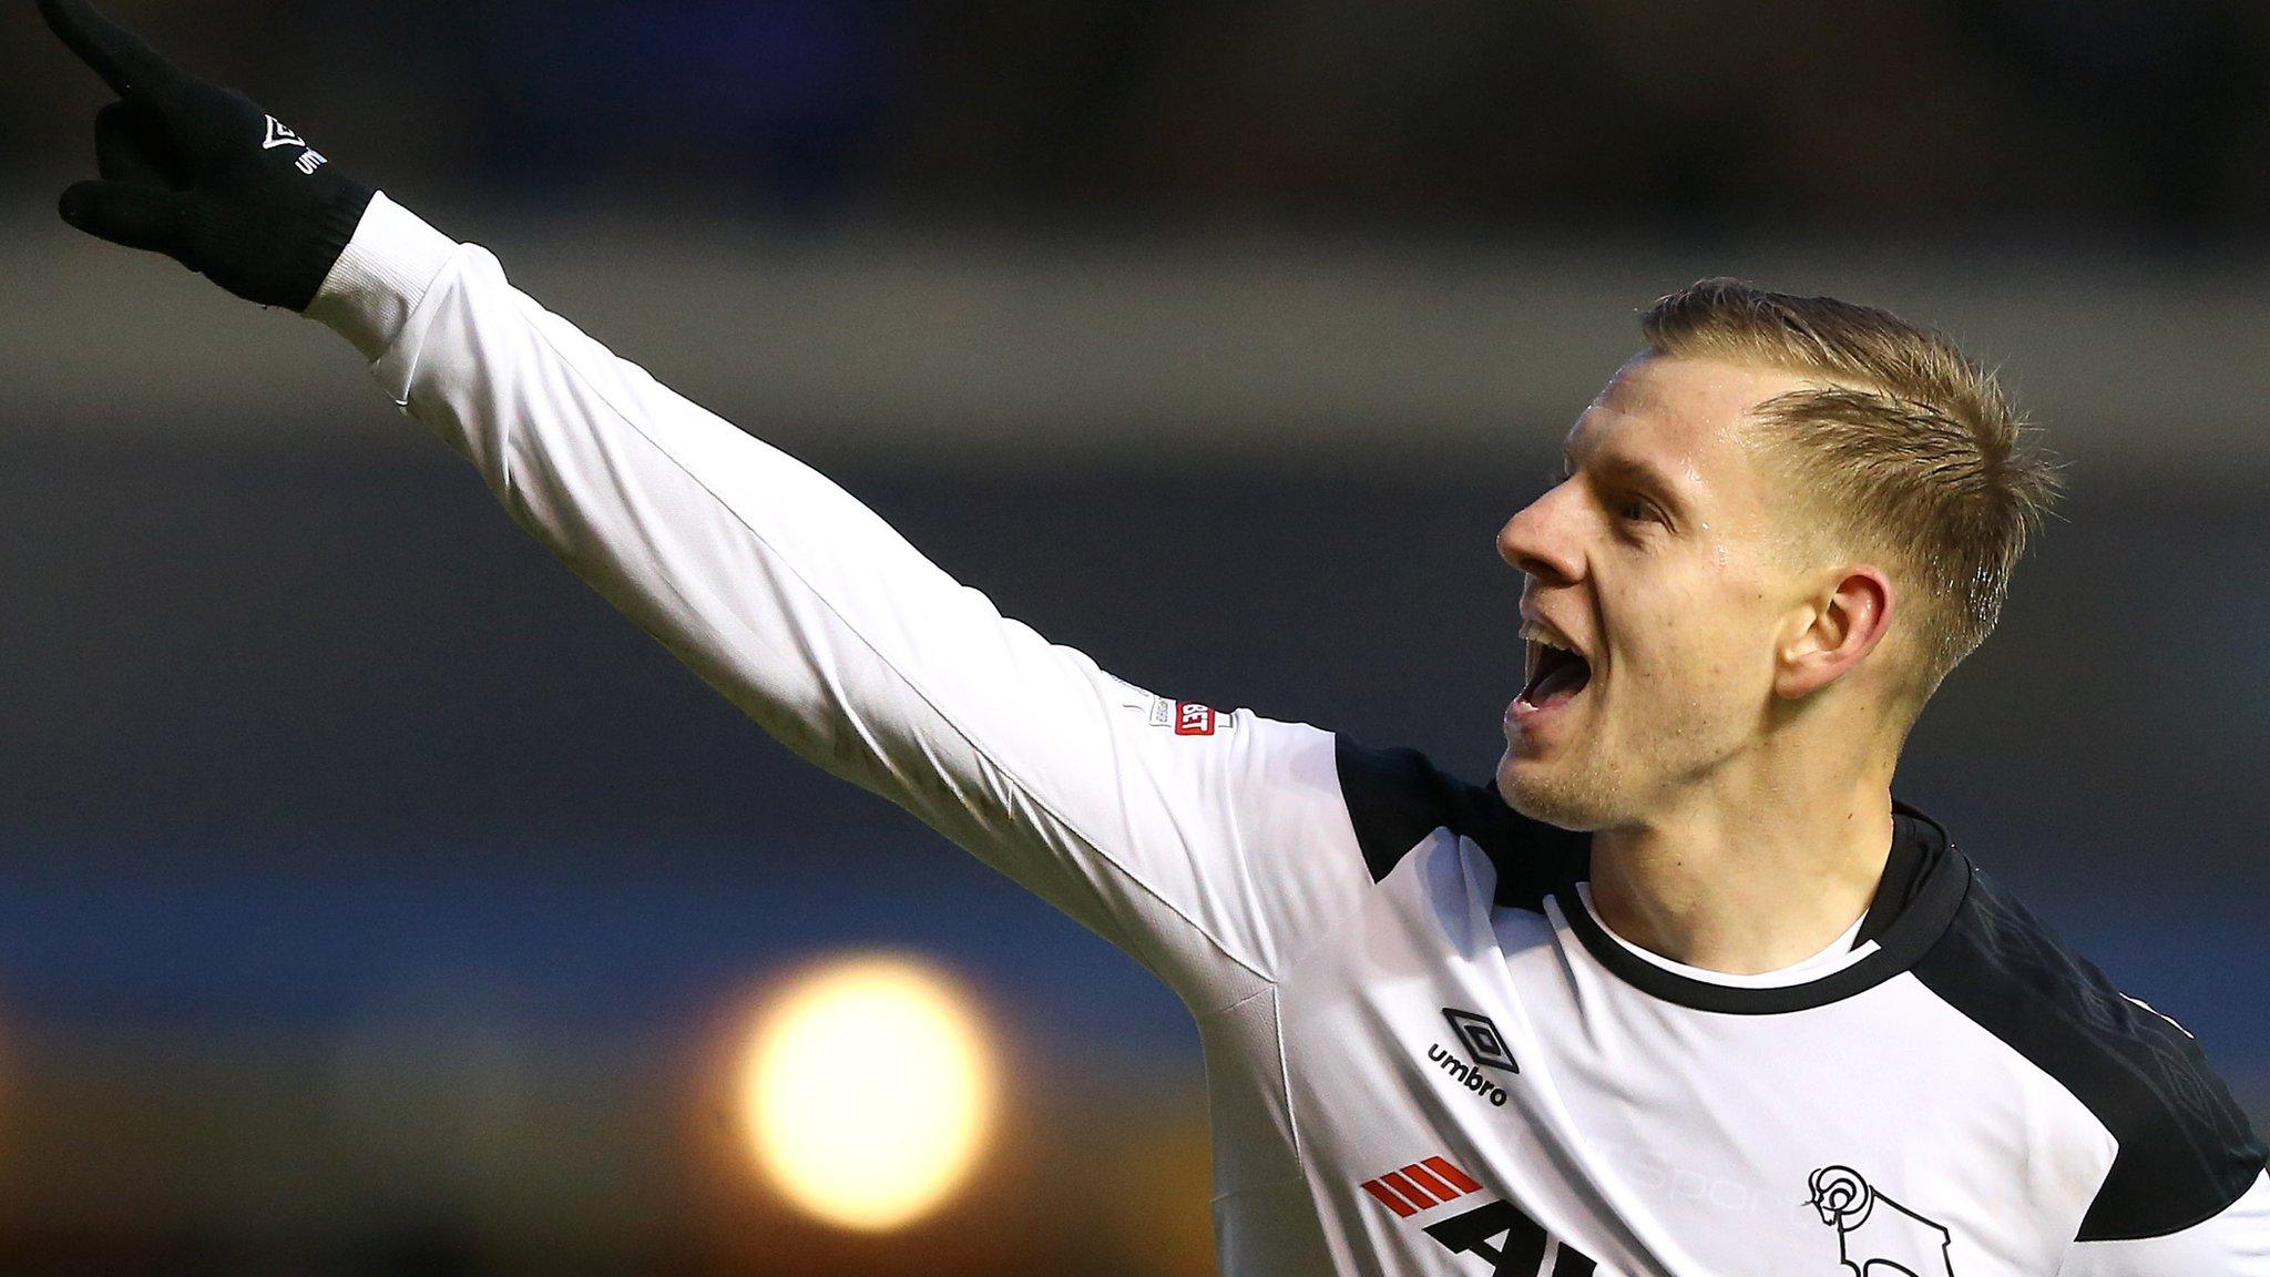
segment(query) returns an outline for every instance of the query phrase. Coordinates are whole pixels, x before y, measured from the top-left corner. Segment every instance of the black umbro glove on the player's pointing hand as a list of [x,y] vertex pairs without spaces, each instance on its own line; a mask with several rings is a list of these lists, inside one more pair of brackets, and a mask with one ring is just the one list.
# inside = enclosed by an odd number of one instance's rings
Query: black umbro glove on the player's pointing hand
[[102,182],[64,191],[64,220],[163,252],[263,307],[304,311],[372,189],[336,173],[250,98],[184,75],[86,0],[39,0],[118,102],[95,116]]

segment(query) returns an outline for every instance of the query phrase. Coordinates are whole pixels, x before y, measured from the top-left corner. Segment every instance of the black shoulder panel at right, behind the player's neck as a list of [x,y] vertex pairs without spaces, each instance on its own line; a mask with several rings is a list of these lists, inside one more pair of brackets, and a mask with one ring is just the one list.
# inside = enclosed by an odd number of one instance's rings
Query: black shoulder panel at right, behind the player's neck
[[2066,1086],[2120,1141],[2075,1241],[2166,1236],[2220,1213],[2263,1145],[2191,1034],[2122,998],[2016,898],[1975,875],[1916,977]]

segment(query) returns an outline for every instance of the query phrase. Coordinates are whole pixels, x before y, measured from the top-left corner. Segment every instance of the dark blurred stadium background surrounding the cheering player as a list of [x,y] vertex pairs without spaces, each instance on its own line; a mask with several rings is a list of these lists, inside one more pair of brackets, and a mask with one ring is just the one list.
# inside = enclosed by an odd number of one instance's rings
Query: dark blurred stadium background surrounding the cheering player
[[[1489,539],[1634,307],[1950,327],[2073,493],[1902,793],[2270,1118],[2270,9],[111,9],[1010,614],[1473,775]],[[343,343],[66,232],[102,100],[0,16],[0,1270],[1208,1272],[1174,1000],[738,720]],[[738,1077],[876,948],[1001,1120],[844,1232]],[[915,1086],[903,1029],[844,1068]]]

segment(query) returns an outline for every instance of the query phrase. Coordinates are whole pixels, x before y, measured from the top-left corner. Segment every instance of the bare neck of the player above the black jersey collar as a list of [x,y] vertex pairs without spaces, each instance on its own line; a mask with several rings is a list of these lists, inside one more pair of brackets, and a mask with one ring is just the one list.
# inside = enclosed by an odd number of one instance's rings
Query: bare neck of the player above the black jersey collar
[[1875,900],[1891,857],[1891,779],[1823,793],[1725,786],[1591,838],[1591,900],[1612,932],[1727,975],[1818,954]]

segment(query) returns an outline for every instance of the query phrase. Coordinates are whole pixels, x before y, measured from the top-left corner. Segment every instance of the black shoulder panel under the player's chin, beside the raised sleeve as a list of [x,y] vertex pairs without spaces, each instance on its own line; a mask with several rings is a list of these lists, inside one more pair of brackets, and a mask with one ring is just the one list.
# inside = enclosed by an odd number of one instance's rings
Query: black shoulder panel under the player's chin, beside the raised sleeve
[[1419,750],[1371,750],[1337,741],[1339,793],[1371,882],[1394,873],[1428,834],[1473,838],[1498,866],[1498,904],[1541,909],[1544,895],[1582,873],[1589,838],[1521,816],[1496,786],[1466,784]]

